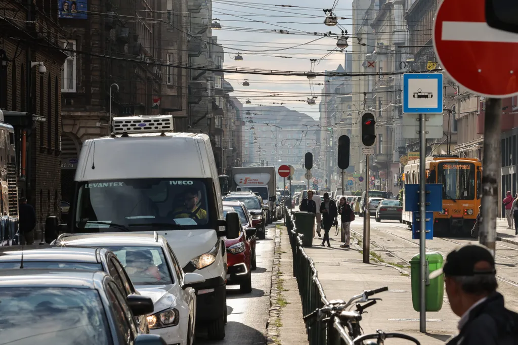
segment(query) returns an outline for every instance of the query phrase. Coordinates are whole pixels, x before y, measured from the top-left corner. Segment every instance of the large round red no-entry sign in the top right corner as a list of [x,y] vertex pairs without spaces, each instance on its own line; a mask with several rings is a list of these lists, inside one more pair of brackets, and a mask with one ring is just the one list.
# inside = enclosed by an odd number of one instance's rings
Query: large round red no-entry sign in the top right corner
[[434,20],[434,50],[455,82],[478,95],[509,97],[518,93],[518,34],[490,27],[485,14],[485,0],[444,0]]

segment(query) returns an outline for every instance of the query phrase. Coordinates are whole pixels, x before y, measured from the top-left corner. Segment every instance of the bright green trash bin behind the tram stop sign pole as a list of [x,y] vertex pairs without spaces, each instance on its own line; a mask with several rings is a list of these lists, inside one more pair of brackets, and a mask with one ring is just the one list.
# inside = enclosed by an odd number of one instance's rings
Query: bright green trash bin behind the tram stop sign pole
[[[428,272],[433,272],[442,267],[443,258],[439,253],[426,253],[428,261]],[[420,256],[419,254],[410,260],[410,279],[412,284],[412,305],[415,311],[420,311],[419,306],[419,283],[420,277]],[[439,311],[442,308],[444,297],[444,276],[440,275],[435,279],[430,279],[426,285],[426,311]]]

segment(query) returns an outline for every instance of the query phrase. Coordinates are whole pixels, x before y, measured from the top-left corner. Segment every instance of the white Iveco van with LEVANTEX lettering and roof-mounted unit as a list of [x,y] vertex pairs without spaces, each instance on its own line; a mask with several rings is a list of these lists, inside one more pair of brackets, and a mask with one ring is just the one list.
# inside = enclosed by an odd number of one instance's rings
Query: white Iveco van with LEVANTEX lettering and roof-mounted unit
[[164,236],[183,270],[205,277],[195,287],[197,321],[208,324],[211,339],[223,339],[227,258],[222,237],[237,238],[241,224],[235,212],[223,220],[209,137],[172,133],[171,116],[114,118],[113,123],[114,134],[83,143],[70,224],[57,232],[156,231]]

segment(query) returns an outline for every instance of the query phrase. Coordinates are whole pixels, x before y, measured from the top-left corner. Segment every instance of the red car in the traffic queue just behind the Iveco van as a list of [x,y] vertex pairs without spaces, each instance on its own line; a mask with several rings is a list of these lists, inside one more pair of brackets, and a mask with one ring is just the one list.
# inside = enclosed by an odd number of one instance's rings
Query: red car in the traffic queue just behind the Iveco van
[[238,238],[225,239],[227,252],[227,284],[239,284],[242,293],[250,293],[252,292],[252,270],[257,268],[255,257],[256,229],[251,227],[249,213],[242,203],[225,202],[223,214],[226,216],[227,212],[237,212],[243,226],[243,230],[240,232]]

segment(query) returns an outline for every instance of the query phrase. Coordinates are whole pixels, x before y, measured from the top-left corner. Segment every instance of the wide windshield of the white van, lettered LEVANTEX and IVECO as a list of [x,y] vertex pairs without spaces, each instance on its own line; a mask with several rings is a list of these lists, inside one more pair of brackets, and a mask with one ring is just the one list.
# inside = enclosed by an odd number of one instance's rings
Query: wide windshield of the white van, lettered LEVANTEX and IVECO
[[78,187],[76,232],[199,228],[209,222],[203,179],[125,179],[83,182]]

